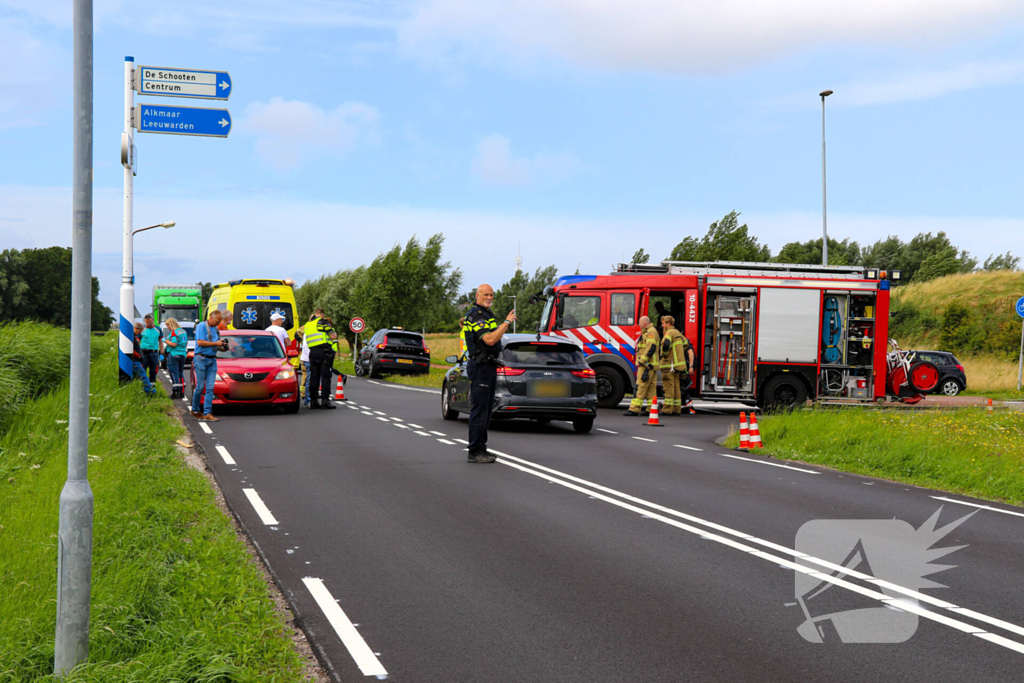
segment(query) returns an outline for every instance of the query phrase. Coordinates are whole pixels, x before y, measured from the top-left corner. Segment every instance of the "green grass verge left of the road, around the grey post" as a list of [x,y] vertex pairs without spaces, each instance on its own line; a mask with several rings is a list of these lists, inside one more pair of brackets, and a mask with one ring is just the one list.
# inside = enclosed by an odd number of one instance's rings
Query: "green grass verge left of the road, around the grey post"
[[[175,447],[170,400],[119,386],[116,336],[93,340],[90,657],[66,680],[299,681],[258,568],[205,476]],[[52,680],[57,501],[68,383],[0,437],[0,681]]]

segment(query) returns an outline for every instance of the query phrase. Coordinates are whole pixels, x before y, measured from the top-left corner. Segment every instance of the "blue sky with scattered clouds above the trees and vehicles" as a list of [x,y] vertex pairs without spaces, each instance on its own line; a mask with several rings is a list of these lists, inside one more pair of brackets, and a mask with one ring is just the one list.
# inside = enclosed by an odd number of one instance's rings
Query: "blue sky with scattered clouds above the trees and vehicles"
[[[856,5],[856,6],[854,6]],[[0,247],[71,241],[71,2],[0,0]],[[1024,253],[1020,0],[95,5],[94,263],[117,308],[125,55],[229,71],[227,139],[137,134],[136,303],[442,231],[466,275],[666,256],[731,210],[778,250],[944,229]],[[198,104],[168,97],[136,101]]]

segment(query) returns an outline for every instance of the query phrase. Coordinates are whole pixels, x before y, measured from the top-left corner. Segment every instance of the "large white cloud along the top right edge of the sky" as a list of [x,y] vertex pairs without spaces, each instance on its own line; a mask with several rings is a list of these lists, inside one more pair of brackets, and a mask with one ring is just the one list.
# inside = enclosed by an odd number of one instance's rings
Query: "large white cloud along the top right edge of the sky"
[[423,0],[399,37],[427,59],[709,74],[822,45],[932,48],[1022,19],[1020,0]]

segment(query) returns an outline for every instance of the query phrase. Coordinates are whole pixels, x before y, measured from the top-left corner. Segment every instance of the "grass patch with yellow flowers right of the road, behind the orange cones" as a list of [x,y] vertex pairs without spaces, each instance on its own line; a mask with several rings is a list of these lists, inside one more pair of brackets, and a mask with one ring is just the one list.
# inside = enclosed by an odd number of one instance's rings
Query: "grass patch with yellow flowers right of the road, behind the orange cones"
[[[1024,413],[812,409],[758,419],[777,458],[1024,505]],[[739,445],[730,434],[728,447]]]

